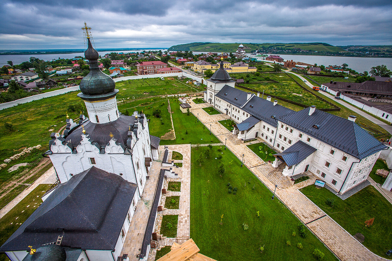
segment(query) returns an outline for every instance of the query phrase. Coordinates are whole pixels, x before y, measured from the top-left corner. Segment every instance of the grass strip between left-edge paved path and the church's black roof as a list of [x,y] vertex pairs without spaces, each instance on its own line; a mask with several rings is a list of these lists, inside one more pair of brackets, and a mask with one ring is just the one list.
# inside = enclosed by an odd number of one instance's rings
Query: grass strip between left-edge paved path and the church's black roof
[[[41,196],[45,194],[45,191],[50,186],[49,184],[38,185],[38,187],[31,191],[31,193],[0,219],[0,245],[3,245],[16,229],[33,214],[40,203],[42,203]],[[5,261],[9,259],[5,254],[1,254],[0,260]]]

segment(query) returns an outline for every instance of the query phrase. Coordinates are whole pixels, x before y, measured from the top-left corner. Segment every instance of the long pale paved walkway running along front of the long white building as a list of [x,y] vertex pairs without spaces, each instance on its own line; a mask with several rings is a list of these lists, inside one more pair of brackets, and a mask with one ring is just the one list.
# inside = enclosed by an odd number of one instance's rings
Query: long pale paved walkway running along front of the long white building
[[[201,105],[201,104],[196,104]],[[198,111],[198,110],[197,110]],[[192,113],[194,111],[192,110]],[[214,117],[211,117],[214,116]],[[224,128],[219,122],[213,122],[218,118],[216,115],[208,115],[208,113],[199,113],[199,120],[205,124],[211,124],[211,131],[218,139],[225,142],[227,129]],[[208,126],[209,127],[209,126]],[[243,157],[243,162],[250,171],[256,175],[261,182],[263,182],[271,191],[275,188],[268,178],[263,173],[270,168],[269,164],[265,164],[259,157],[257,157],[249,148],[244,144],[233,144],[229,139],[226,144],[240,160]],[[354,239],[348,232],[340,227],[334,220],[326,215],[319,209],[313,202],[304,196],[298,189],[304,185],[314,183],[314,179],[295,184],[285,189],[277,189],[276,195],[285,205],[318,236],[325,245],[327,245],[336,256],[341,260],[387,260],[375,255],[365,248],[361,243]],[[272,193],[271,193],[272,195]],[[318,219],[319,218],[319,219]]]

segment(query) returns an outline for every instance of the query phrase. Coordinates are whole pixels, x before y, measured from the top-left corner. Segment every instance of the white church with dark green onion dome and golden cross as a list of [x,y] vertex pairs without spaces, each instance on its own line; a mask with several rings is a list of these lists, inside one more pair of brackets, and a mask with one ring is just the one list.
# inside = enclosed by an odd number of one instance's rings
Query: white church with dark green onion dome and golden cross
[[[120,253],[151,161],[158,159],[160,139],[150,135],[143,113],[125,116],[118,111],[115,83],[98,68],[99,55],[89,34],[87,41],[90,72],[80,82],[78,96],[88,117],[67,119],[64,134],[52,133],[44,155],[60,184],[0,247],[12,261],[128,260]],[[145,238],[143,249],[150,242]],[[35,254],[29,254],[29,246]],[[141,255],[140,260],[146,259]]]

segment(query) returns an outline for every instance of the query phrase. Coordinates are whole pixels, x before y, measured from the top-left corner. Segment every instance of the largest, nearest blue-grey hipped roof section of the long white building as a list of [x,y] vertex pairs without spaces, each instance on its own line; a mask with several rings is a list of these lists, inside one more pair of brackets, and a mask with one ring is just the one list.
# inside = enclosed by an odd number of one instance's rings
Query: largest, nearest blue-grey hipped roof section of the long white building
[[[309,110],[282,116],[279,121],[359,159],[388,148],[353,121],[320,110],[309,116]],[[313,127],[315,124],[318,129]]]

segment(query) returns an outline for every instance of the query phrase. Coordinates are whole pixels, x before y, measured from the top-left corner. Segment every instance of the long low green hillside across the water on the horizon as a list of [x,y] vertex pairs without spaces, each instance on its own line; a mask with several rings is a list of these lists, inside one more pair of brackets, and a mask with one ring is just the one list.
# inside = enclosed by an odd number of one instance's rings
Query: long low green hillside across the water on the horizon
[[[344,49],[330,45],[328,43],[242,43],[246,52],[253,52],[257,49],[266,51],[284,51],[298,52],[305,50],[309,52],[328,52],[337,53],[345,52]],[[235,52],[240,43],[187,43],[183,45],[174,45],[169,51],[194,51],[194,52]]]

